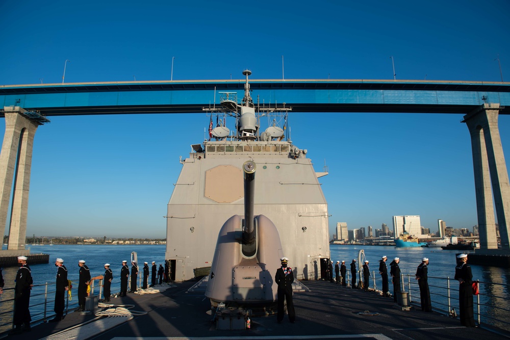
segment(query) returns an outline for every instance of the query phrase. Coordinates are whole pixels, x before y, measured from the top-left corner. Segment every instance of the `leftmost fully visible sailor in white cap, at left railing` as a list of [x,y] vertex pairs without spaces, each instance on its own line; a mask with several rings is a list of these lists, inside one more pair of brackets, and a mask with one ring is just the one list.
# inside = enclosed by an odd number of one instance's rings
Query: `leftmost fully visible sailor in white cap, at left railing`
[[[23,330],[30,331],[30,290],[34,285],[32,280],[32,272],[27,265],[26,256],[18,256],[18,273],[16,274],[16,286],[14,287],[14,318],[13,324],[15,329],[12,334],[19,334]],[[24,324],[23,329],[21,325]]]

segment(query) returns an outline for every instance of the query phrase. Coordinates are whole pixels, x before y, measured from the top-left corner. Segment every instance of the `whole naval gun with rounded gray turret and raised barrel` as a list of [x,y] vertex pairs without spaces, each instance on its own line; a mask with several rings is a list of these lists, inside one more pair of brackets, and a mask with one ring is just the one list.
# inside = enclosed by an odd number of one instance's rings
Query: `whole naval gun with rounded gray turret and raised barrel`
[[244,218],[234,215],[218,233],[206,296],[212,308],[249,308],[254,314],[276,310],[274,274],[283,257],[276,226],[264,215],[254,216],[256,164],[243,164]]

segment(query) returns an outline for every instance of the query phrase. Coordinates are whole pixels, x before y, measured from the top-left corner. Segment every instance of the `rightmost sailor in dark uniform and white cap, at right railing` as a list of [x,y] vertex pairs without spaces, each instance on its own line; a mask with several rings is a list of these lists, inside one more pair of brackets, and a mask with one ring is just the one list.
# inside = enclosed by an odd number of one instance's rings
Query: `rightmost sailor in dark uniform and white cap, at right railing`
[[471,274],[471,267],[467,264],[468,255],[458,255],[457,261],[455,280],[458,280],[459,319],[463,326],[476,327],[473,317],[473,274]]

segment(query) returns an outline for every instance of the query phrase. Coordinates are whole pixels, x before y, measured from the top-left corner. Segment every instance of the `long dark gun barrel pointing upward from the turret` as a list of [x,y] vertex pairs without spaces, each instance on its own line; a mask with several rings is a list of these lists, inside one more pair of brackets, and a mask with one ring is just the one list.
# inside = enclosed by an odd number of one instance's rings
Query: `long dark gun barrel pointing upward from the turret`
[[244,232],[243,244],[255,242],[255,230],[253,224],[254,197],[255,197],[255,170],[257,165],[253,161],[243,164],[244,172]]

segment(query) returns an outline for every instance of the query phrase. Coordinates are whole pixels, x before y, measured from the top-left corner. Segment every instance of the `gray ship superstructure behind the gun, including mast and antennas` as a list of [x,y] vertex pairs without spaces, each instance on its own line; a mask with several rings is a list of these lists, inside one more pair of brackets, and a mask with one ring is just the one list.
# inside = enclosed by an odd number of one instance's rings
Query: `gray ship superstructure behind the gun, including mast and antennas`
[[307,150],[290,140],[292,108],[283,100],[281,105],[253,101],[250,74],[243,71],[241,100],[237,92],[218,91],[218,106],[214,102],[202,109],[209,118],[209,140],[192,144],[189,157],[180,160],[166,216],[171,280],[192,279],[211,266],[223,223],[243,215],[246,161],[258,169],[254,212],[276,226],[296,278],[320,277],[321,264],[327,262],[321,259],[330,257],[327,203],[318,180],[327,171],[316,172]]

